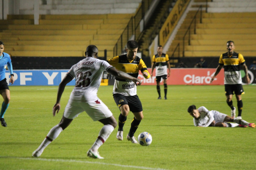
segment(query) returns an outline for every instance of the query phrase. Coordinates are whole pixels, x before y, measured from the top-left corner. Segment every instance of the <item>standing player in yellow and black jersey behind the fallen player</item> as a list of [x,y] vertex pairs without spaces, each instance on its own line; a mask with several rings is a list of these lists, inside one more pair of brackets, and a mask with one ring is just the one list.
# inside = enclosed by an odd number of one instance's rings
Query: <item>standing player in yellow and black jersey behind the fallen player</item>
[[243,67],[243,70],[245,72],[245,81],[247,84],[249,84],[250,82],[248,68],[245,64],[243,55],[234,52],[235,43],[233,41],[228,41],[226,48],[228,52],[220,55],[219,66],[217,67],[216,72],[211,79],[211,82],[218,75],[222,67],[224,67],[226,102],[231,108],[231,117],[236,116],[236,108],[233,106],[232,102],[233,92],[235,92],[238,108],[237,118],[242,119],[241,114],[243,109],[243,102],[241,94],[244,94],[244,90],[242,87],[240,65]]

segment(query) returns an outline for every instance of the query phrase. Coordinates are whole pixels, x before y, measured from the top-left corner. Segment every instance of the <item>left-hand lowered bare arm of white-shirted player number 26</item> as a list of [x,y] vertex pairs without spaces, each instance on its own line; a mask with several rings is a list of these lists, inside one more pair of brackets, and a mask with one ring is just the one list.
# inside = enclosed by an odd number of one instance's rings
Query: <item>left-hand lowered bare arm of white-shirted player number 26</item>
[[73,79],[73,77],[70,74],[66,74],[64,79],[59,83],[58,93],[57,93],[57,101],[52,109],[52,114],[55,116],[56,111],[59,113],[60,109],[60,98],[62,96],[62,93],[66,87],[66,85]]

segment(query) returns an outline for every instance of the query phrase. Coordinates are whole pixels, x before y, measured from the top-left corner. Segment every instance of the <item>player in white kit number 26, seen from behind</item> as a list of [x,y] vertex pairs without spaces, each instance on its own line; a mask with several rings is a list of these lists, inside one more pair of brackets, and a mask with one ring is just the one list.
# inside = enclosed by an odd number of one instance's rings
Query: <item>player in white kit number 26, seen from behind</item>
[[116,70],[106,61],[98,60],[98,48],[94,45],[87,47],[85,55],[86,58],[73,65],[59,84],[57,101],[53,107],[53,116],[55,116],[56,111],[57,113],[59,112],[60,98],[66,84],[73,78],[76,80],[76,85],[70,94],[62,120],[49,131],[45,140],[33,152],[32,156],[39,157],[47,145],[55,140],[59,136],[60,132],[67,128],[75,117],[85,111],[93,121],[99,121],[104,124],[100,130],[97,140],[88,150],[87,156],[103,159],[103,157],[98,154],[98,148],[107,140],[111,132],[117,126],[117,122],[108,107],[97,97],[102,72],[107,71],[111,75],[119,77],[120,79],[131,80],[136,85],[137,83],[140,85],[141,81],[124,72]]

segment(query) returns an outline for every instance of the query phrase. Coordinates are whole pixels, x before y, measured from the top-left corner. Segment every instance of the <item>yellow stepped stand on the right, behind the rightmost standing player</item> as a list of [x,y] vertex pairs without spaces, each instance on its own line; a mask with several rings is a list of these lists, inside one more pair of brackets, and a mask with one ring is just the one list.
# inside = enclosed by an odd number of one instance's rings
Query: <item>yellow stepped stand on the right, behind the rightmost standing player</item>
[[[178,43],[182,45],[184,34],[195,16],[194,10],[197,10],[199,5],[205,5],[205,1],[195,0],[168,49],[168,55],[173,54]],[[256,54],[255,18],[255,1],[213,0],[209,2],[208,13],[205,11],[202,13],[202,23],[199,19],[196,21],[196,34],[193,34],[194,28],[191,28],[190,45],[188,45],[188,36],[185,37],[185,57],[218,57],[225,51],[225,43],[228,40],[235,42],[236,51],[239,53],[254,57]]]

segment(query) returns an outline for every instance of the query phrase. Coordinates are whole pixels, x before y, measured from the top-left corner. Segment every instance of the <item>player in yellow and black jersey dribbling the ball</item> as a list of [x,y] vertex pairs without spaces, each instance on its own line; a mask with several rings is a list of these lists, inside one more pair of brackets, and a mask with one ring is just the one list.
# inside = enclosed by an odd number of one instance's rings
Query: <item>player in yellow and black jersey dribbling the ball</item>
[[[142,75],[148,79],[150,77],[146,64],[140,59],[137,54],[138,43],[130,40],[126,45],[127,54],[115,56],[109,59],[110,65],[114,66],[117,70],[121,70],[124,73],[128,73],[133,77],[138,77],[139,71]],[[143,119],[142,104],[139,97],[137,96],[137,84],[130,80],[115,78],[115,84],[113,88],[113,97],[116,105],[119,107],[121,114],[119,116],[117,140],[123,140],[123,126],[126,122],[129,111],[134,114],[133,121],[131,123],[127,140],[132,143],[138,143],[134,138],[134,133],[137,130],[141,120]]]

